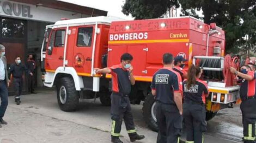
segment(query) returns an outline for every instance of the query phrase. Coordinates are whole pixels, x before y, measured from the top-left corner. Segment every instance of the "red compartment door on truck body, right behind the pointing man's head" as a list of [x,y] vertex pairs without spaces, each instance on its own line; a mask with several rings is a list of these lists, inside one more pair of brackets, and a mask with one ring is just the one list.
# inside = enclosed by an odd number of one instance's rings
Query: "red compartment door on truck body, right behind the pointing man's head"
[[128,46],[127,52],[133,56],[132,66],[133,75],[145,76],[147,75],[146,70],[146,59],[147,59],[148,48],[146,45]]

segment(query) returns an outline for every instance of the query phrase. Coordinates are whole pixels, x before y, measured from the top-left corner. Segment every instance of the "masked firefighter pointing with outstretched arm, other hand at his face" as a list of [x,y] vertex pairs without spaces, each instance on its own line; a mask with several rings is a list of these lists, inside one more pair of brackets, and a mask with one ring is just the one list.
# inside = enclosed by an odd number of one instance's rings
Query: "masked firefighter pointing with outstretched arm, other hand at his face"
[[131,104],[129,94],[131,85],[135,85],[133,77],[133,67],[131,61],[133,57],[129,53],[121,56],[121,63],[103,69],[95,69],[96,74],[111,74],[112,75],[112,94],[111,94],[111,141],[121,143],[119,139],[121,125],[124,119],[127,133],[131,142],[144,139],[144,135],[138,135],[133,122]]

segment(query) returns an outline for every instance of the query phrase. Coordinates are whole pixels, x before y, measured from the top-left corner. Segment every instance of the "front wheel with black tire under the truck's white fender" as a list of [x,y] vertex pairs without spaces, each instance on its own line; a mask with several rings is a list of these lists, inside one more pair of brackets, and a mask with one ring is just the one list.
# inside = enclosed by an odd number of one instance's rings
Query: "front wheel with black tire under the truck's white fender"
[[56,87],[59,108],[66,112],[75,111],[79,103],[79,93],[75,88],[74,80],[71,77],[62,77]]

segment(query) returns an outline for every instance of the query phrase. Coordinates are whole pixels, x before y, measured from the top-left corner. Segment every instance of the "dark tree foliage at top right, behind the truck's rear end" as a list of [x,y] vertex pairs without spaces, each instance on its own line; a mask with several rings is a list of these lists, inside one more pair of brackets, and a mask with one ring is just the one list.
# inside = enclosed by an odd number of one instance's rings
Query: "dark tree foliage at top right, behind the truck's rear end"
[[[180,0],[184,15],[198,16],[203,10],[204,22],[215,22],[225,31],[229,51],[256,51],[255,0]],[[246,38],[248,37],[248,38]]]

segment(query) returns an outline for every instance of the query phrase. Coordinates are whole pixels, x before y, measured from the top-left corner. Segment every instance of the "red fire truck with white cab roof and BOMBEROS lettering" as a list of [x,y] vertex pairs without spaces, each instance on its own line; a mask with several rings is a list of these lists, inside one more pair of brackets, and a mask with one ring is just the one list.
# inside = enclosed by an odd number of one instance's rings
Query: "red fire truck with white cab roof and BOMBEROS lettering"
[[[90,17],[58,21],[47,25],[41,49],[44,85],[56,86],[60,109],[74,111],[79,99],[100,98],[111,105],[111,75],[96,75],[94,68],[120,63],[123,53],[133,56],[136,85],[130,100],[143,103],[144,119],[157,130],[155,100],[150,93],[153,74],[162,67],[163,53],[181,55],[204,69],[210,96],[206,102],[209,119],[239,98],[239,86],[229,73],[239,60],[224,56],[224,31],[215,23],[204,24],[193,17],[118,21]],[[239,65],[239,64],[238,64]]]

